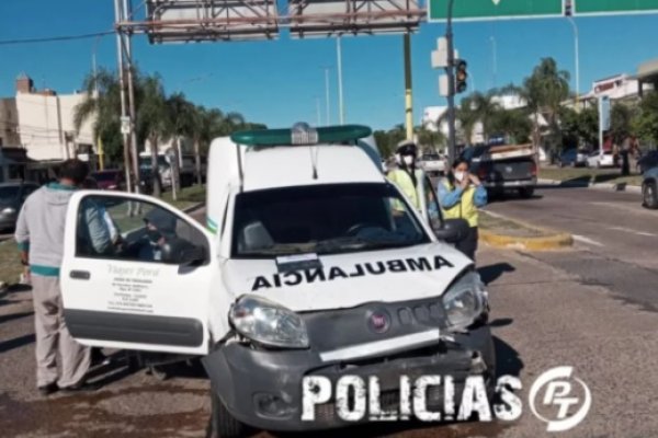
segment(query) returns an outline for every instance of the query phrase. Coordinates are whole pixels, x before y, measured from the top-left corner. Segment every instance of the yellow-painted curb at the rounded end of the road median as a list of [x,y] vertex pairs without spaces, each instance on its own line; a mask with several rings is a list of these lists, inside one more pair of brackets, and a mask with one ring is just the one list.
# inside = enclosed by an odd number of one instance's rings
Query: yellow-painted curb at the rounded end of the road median
[[554,251],[564,250],[574,245],[574,237],[569,233],[557,232],[546,228],[536,227],[534,224],[512,219],[503,215],[494,214],[491,211],[486,212],[494,217],[500,217],[511,222],[517,222],[525,228],[540,230],[542,232],[547,233],[546,235],[537,238],[521,238],[517,235],[497,233],[480,228],[479,239],[494,247],[500,247],[506,250]]

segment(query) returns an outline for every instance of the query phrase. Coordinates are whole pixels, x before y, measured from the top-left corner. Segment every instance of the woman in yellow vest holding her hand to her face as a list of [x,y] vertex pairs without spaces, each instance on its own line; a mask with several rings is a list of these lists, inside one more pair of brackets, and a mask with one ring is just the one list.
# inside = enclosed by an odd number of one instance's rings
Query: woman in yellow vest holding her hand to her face
[[468,161],[457,159],[447,177],[439,183],[439,204],[444,219],[465,219],[468,222],[468,235],[456,247],[475,261],[478,208],[487,205],[487,189],[476,175],[468,172]]

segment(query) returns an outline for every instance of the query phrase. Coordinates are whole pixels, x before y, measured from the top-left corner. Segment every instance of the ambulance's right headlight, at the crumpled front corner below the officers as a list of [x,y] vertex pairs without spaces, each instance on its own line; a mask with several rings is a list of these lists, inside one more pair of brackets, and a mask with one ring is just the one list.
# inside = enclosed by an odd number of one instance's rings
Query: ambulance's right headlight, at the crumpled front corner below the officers
[[454,284],[441,299],[449,330],[463,331],[473,324],[485,309],[485,285],[477,273],[470,272]]

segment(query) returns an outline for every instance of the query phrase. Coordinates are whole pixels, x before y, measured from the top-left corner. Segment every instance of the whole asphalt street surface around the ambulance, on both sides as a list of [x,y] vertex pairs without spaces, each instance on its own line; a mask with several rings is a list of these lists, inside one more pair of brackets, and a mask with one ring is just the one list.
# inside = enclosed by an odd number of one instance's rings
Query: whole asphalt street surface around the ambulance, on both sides
[[[499,374],[520,377],[523,414],[511,423],[451,425],[379,424],[309,436],[342,437],[625,437],[658,435],[658,274],[649,235],[651,212],[629,195],[580,189],[540,191],[531,200],[510,199],[492,211],[576,232],[590,243],[568,251],[522,253],[483,247],[478,266],[489,284],[491,326]],[[567,203],[565,205],[565,203]],[[614,206],[610,206],[612,203]],[[561,206],[561,208],[558,208]],[[592,223],[571,223],[563,215]],[[197,211],[196,216],[203,216]],[[626,218],[627,220],[622,220]],[[597,219],[599,221],[597,222]],[[587,221],[586,221],[587,222]],[[597,222],[597,223],[593,223]],[[655,223],[655,220],[654,220]],[[640,227],[642,226],[642,227]],[[625,235],[631,234],[631,235]],[[595,242],[595,243],[592,243]],[[655,254],[654,250],[654,254]],[[93,370],[104,387],[90,394],[39,397],[34,389],[34,328],[30,291],[0,297],[0,430],[21,437],[204,437],[208,382],[193,366],[170,369],[160,381],[128,369],[121,353]],[[529,407],[529,390],[542,372],[572,366],[591,391],[586,419],[561,434]],[[260,434],[268,437],[269,434]]]

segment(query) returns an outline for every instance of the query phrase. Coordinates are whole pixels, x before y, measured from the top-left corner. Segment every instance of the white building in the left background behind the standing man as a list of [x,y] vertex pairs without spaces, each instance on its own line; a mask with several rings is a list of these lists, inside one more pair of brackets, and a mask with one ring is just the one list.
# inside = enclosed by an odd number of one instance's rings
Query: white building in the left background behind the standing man
[[16,79],[15,97],[2,100],[5,106],[13,101],[16,116],[8,119],[0,114],[0,125],[15,132],[12,140],[18,139],[19,143],[11,146],[25,148],[33,160],[84,159],[93,153],[92,123],[88,120],[80,132],[73,127],[75,107],[83,100],[83,93],[35,90],[32,79],[21,74]]

